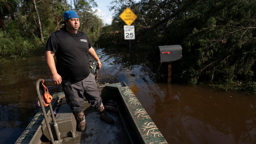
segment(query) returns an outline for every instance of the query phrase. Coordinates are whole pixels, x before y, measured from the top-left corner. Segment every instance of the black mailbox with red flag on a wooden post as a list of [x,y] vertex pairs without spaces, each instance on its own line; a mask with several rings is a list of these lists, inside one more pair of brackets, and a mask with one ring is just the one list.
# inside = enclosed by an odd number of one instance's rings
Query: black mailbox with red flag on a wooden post
[[165,45],[156,48],[156,59],[162,62],[180,60],[182,57],[181,45]]

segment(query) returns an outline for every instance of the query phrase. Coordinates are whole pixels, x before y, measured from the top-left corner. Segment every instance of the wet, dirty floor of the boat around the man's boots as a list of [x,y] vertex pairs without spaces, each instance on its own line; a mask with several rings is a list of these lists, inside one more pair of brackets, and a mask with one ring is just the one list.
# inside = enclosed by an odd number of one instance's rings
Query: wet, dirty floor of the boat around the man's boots
[[[95,144],[103,141],[105,144],[131,143],[118,112],[107,111],[107,114],[115,120],[114,124],[107,124],[105,121],[100,120],[96,109],[87,108],[84,114],[86,119],[85,130],[83,132],[76,131],[74,138],[67,137],[55,141],[56,144]],[[113,133],[116,133],[116,135],[113,135]],[[41,144],[50,144],[50,142],[42,142]]]

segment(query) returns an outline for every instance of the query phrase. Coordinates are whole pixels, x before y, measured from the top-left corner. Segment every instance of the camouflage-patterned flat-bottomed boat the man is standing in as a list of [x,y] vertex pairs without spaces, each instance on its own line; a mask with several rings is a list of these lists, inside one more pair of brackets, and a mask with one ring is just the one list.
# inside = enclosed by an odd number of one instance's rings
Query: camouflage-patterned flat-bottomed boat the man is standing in
[[[61,108],[63,106],[62,100],[65,98],[64,93],[59,92],[53,94],[53,107],[56,107],[58,103],[61,104],[60,110],[55,117],[56,122],[58,120],[58,114],[60,117],[65,117],[64,119],[61,119],[59,123],[57,122],[59,127],[58,131],[60,132],[60,135],[62,135],[62,139],[57,141],[57,139],[54,138],[55,143],[167,143],[156,124],[152,121],[140,101],[126,84],[108,84],[100,87],[100,90],[103,104],[104,101],[105,103],[110,100],[115,101],[117,112],[106,109],[107,114],[115,120],[115,123],[107,124],[105,121],[100,120],[97,110],[92,109],[88,102],[85,102],[84,114],[86,128],[83,132],[76,131],[76,136],[74,136],[76,130],[75,117],[72,114],[72,111],[70,111],[71,109],[69,108],[69,112],[63,112],[62,110],[67,109]],[[46,107],[45,111],[48,111],[46,114],[47,119],[51,122],[52,118],[49,107]],[[53,127],[52,122],[50,125]],[[55,128],[52,128],[52,131],[54,129]],[[67,137],[69,132],[71,133],[71,136]],[[55,131],[52,132],[52,134],[53,137],[54,135],[56,137]],[[30,124],[28,124],[28,127],[21,134],[20,138],[16,141],[16,144],[49,144],[50,142],[44,116],[42,115],[42,112],[39,111]]]

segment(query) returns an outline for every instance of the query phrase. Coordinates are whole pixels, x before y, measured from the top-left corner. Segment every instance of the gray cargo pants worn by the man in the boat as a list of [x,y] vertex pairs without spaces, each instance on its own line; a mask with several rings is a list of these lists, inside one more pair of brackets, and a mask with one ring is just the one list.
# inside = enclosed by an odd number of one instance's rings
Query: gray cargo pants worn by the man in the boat
[[81,112],[84,109],[84,97],[93,108],[100,107],[102,102],[100,90],[92,73],[81,81],[62,80],[61,84],[67,104],[74,113]]

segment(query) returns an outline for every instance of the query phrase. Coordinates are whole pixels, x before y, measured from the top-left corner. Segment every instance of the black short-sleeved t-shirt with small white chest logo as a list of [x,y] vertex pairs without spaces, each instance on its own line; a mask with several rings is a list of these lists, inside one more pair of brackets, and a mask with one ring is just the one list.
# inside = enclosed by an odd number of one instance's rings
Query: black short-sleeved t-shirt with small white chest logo
[[90,74],[88,51],[91,44],[81,31],[76,34],[60,29],[49,37],[46,51],[56,55],[56,69],[62,79],[81,80]]

